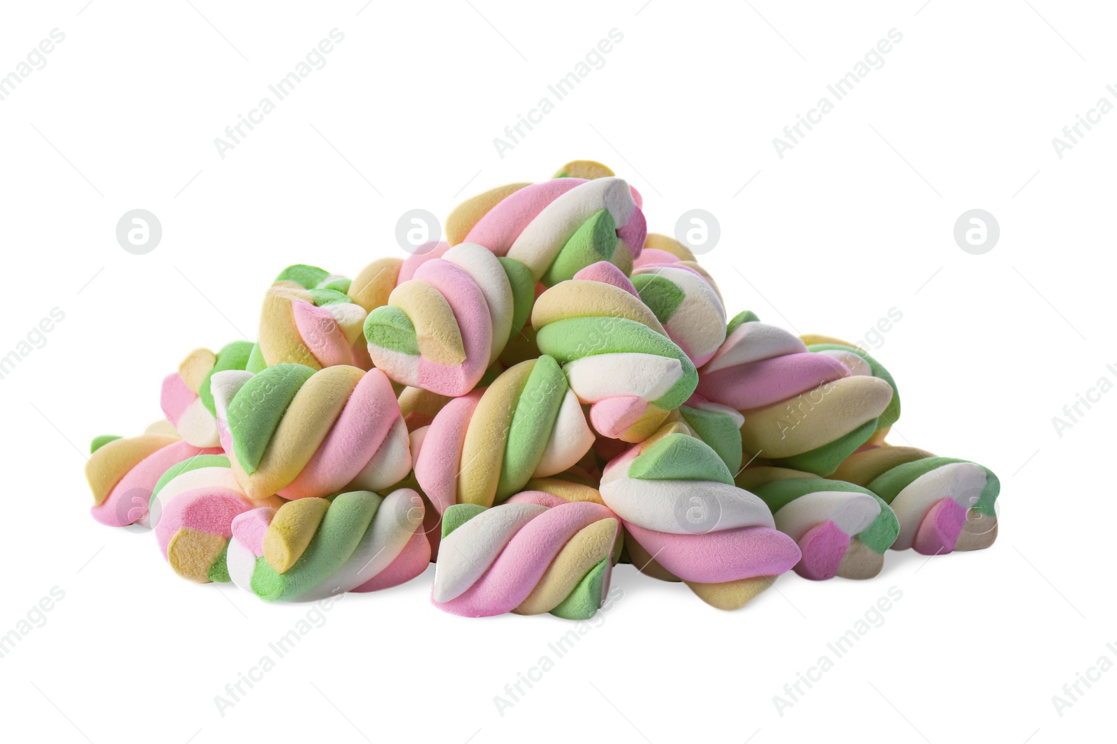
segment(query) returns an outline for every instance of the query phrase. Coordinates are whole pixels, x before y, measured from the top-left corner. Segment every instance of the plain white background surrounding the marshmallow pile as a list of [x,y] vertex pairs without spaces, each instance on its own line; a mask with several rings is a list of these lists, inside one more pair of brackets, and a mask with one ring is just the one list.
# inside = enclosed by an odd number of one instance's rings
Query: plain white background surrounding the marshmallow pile
[[[0,659],[4,738],[1111,736],[1117,671],[1061,716],[1052,696],[1100,656],[1117,661],[1106,648],[1117,394],[1081,407],[1061,436],[1052,417],[1098,378],[1117,381],[1106,368],[1117,363],[1117,114],[1062,158],[1051,144],[1098,98],[1117,104],[1111,8],[85,2],[6,3],[0,22],[0,74],[51,29],[66,35],[0,102],[0,356],[51,308],[65,312],[0,380],[0,634],[52,587],[65,592]],[[345,38],[326,66],[222,160],[214,137],[333,28]],[[604,66],[502,158],[494,137],[613,28],[623,40]],[[781,160],[772,138],[892,28],[903,41],[884,67]],[[190,349],[252,337],[283,267],[353,276],[402,254],[404,211],[445,215],[572,158],[630,178],[653,231],[691,207],[717,215],[722,239],[703,262],[731,315],[859,340],[901,311],[873,350],[904,402],[891,441],[999,473],[999,541],[929,561],[889,553],[862,582],[789,574],[732,613],[619,568],[620,601],[503,716],[494,696],[554,657],[547,644],[571,624],[443,615],[431,569],[347,596],[220,715],[214,696],[311,608],[180,581],[150,534],[95,523],[88,441],[156,418],[160,380]],[[136,207],[163,226],[146,255],[115,240]],[[952,234],[974,207],[1001,226],[983,255]],[[903,599],[884,625],[781,716],[773,696],[833,658],[827,644],[894,586]]]

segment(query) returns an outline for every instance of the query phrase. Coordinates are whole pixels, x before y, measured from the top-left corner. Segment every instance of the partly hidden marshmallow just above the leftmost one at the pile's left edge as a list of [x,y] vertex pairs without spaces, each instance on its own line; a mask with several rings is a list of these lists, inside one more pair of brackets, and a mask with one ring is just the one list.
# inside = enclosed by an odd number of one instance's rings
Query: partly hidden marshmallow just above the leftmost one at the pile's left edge
[[226,369],[245,369],[251,351],[250,341],[232,341],[217,354],[194,349],[178,371],[163,378],[160,405],[179,436],[198,447],[220,446],[210,378]]

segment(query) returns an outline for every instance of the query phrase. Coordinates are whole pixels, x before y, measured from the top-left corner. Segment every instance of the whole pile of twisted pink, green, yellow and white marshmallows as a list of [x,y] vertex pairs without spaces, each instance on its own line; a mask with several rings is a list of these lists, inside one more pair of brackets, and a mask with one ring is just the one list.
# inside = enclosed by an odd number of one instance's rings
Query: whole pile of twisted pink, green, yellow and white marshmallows
[[286,269],[258,341],[192,351],[165,421],[94,439],[94,518],[268,601],[433,561],[433,603],[469,617],[590,618],[618,562],[737,609],[789,569],[866,579],[889,548],[992,544],[991,471],[887,444],[876,359],[727,321],[641,203],[579,161],[355,279]]

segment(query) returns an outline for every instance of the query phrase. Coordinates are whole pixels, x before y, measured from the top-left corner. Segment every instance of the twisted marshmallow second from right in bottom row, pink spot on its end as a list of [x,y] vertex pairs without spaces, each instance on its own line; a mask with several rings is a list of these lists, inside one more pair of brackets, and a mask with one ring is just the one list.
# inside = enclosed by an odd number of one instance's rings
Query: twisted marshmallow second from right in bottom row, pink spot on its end
[[735,482],[763,499],[776,529],[799,544],[795,572],[806,579],[871,579],[899,533],[887,502],[852,483],[771,466],[747,468]]

